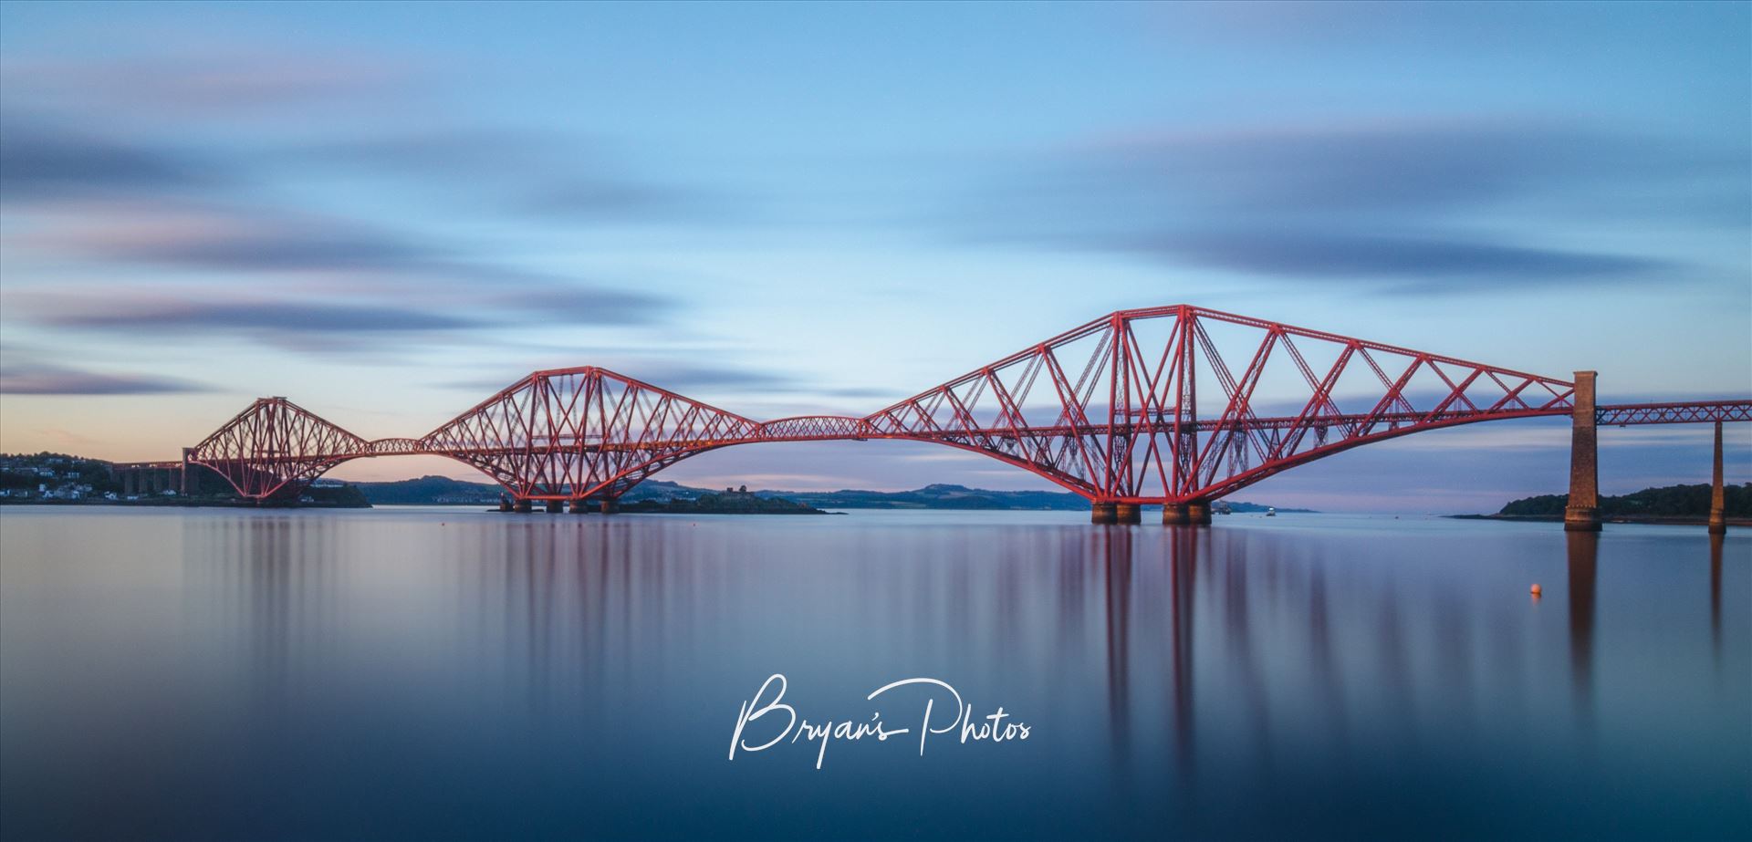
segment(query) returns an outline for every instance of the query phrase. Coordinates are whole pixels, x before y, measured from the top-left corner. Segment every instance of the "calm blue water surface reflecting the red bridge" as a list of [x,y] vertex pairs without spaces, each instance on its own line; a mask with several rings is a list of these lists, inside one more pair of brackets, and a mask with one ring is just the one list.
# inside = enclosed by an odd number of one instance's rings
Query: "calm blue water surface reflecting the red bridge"
[[[1752,835],[1752,536],[1084,520],[7,508],[0,828]],[[727,760],[774,672],[913,733]]]

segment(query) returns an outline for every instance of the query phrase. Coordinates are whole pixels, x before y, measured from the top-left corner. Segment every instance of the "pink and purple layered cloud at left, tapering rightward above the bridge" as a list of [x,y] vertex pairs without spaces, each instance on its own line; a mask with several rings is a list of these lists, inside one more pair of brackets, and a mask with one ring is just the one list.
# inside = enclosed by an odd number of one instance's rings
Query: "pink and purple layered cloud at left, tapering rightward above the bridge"
[[[540,324],[648,326],[675,303],[471,257],[464,249],[317,214],[196,201],[44,205],[14,254],[170,280],[19,284],[7,319],[110,336],[201,331],[279,348],[394,345],[408,334]],[[345,340],[345,341],[340,341]],[[491,340],[475,340],[491,345]]]

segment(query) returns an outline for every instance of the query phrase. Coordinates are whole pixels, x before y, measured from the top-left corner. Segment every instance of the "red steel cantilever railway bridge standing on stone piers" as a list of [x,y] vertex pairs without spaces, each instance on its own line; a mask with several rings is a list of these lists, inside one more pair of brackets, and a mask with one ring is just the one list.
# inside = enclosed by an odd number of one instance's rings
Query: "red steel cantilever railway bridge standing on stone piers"
[[[1258,397],[1256,397],[1258,396]],[[1097,523],[1209,523],[1211,501],[1344,450],[1461,424],[1572,418],[1568,529],[1600,529],[1596,429],[1715,424],[1712,530],[1722,529],[1720,424],[1752,399],[1594,403],[1594,373],[1531,375],[1200,306],[1121,310],[864,417],[753,420],[596,366],[534,371],[420,438],[364,439],[261,397],[186,448],[252,501],[296,499],[364,457],[427,453],[505,487],[517,511],[613,511],[687,457],[762,441],[908,439],[983,453],[1090,501]],[[158,474],[154,474],[158,476]]]

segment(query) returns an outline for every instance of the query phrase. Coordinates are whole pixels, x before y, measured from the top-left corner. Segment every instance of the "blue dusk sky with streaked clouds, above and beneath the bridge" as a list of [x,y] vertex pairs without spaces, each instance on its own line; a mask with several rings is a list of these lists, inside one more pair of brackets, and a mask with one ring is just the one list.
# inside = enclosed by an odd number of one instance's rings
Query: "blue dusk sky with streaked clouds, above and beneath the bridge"
[[[1752,394],[1752,5],[0,4],[4,452],[175,459],[258,396],[419,436],[583,364],[865,415],[1172,303]],[[1605,431],[1601,487],[1706,481],[1708,436]],[[1237,497],[1494,511],[1566,443],[1424,432]],[[427,473],[482,480],[331,476]],[[894,441],[659,476],[1048,487]]]

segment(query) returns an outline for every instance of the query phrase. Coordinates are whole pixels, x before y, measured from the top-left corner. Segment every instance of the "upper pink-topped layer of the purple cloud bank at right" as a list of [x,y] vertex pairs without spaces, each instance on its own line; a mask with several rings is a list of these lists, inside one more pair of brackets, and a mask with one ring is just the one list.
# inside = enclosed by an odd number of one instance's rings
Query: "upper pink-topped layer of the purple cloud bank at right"
[[[1090,180],[1142,179],[1163,207],[1216,214],[1305,214],[1389,221],[1508,201],[1589,215],[1633,210],[1650,182],[1692,187],[1698,208],[1745,196],[1719,179],[1747,175],[1745,149],[1717,149],[1577,117],[1473,114],[1354,116],[1330,121],[1155,130],[1097,137],[1069,151]],[[1608,182],[1600,182],[1610,179]],[[1663,212],[1675,208],[1663,207]]]

